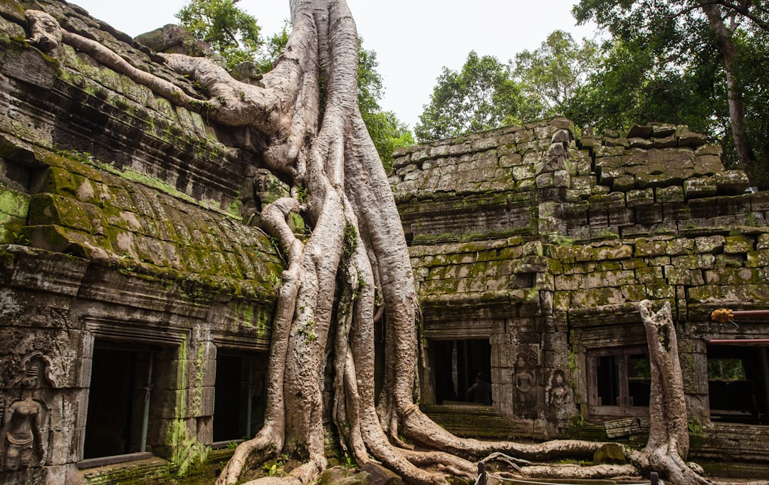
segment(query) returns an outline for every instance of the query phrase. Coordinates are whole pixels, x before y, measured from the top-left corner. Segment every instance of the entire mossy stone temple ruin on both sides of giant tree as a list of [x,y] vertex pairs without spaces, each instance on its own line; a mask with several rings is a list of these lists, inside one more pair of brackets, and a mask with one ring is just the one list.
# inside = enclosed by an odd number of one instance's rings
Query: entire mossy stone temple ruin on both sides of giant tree
[[[82,9],[38,8],[196,95]],[[258,221],[288,186],[231,148],[258,134],[68,45],[43,53],[26,28],[21,4],[0,2],[0,481],[226,460],[261,427],[283,261]],[[769,317],[711,312],[769,308],[769,193],[684,127],[609,135],[557,118],[396,153],[421,405],[460,435],[643,443],[635,304],[669,301],[691,459],[766,477]]]

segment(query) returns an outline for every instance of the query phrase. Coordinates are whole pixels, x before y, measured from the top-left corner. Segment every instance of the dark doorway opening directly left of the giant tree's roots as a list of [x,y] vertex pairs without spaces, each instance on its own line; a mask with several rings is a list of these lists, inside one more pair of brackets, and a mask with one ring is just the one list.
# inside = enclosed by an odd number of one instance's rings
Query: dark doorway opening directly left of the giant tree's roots
[[214,442],[248,439],[265,423],[267,353],[218,350],[214,387]]

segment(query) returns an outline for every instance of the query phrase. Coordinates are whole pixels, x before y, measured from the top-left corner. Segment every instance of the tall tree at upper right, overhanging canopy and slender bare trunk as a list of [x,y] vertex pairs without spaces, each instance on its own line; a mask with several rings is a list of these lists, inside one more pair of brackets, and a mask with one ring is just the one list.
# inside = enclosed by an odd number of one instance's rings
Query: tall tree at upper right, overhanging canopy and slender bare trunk
[[[578,22],[594,20],[615,39],[651,53],[655,65],[697,70],[698,53],[714,49],[724,73],[734,151],[744,166],[754,164],[739,48],[741,36],[769,30],[766,2],[581,0],[573,12]],[[706,69],[711,69],[709,64],[706,61]]]

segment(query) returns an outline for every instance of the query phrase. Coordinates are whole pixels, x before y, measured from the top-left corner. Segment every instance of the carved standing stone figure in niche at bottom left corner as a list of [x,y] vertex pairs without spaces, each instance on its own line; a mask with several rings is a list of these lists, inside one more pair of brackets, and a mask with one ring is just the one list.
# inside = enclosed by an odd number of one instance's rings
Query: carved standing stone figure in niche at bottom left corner
[[[28,370],[21,380],[22,398],[5,410],[2,433],[2,464],[5,470],[19,470],[42,464],[43,407],[32,399],[38,387],[37,368]],[[35,460],[36,458],[36,460]]]

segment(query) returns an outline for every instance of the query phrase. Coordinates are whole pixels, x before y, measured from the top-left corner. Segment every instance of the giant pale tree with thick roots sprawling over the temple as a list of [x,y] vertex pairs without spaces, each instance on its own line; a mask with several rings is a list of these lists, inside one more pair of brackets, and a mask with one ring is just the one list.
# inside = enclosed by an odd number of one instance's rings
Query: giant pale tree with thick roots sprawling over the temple
[[[28,11],[28,17],[36,45],[50,49],[63,40],[177,105],[203,111],[221,125],[258,132],[260,137],[253,138],[260,138],[266,167],[291,181],[294,196],[279,198],[262,211],[265,230],[279,242],[287,260],[271,333],[265,425],[238,446],[218,483],[236,483],[245,468],[276,453],[303,462],[281,480],[315,480],[327,465],[326,416],[335,423],[342,449],[358,464],[378,460],[411,483],[446,483],[447,475],[472,477],[476,467],[470,460],[495,451],[518,459],[550,460],[592,457],[601,447],[575,440],[521,444],[461,439],[414,404],[417,335],[411,263],[384,168],[358,109],[358,34],[344,0],[292,1],[294,29],[285,53],[258,86],[235,81],[208,58],[165,55],[171,68],[205,87],[209,101],[191,98],[104,45],[62,30],[48,14]],[[311,226],[308,238],[291,231],[287,218],[292,212]],[[381,314],[386,372],[375,406],[374,327]],[[673,330],[667,325],[664,331]],[[332,396],[330,406],[323,397],[327,366],[333,369],[326,389]],[[666,379],[669,374],[655,374],[653,368],[652,378]],[[652,424],[647,450],[624,452],[639,468],[657,455],[662,467],[668,462],[678,465],[681,460],[665,458],[686,452],[680,423],[668,420],[667,410],[681,412],[682,390],[663,383],[652,386],[664,387],[660,399],[674,400],[674,406],[662,403],[661,412],[652,413],[660,422]],[[424,450],[414,450],[401,436]],[[531,468],[536,467],[521,470]],[[631,465],[546,470],[573,478],[636,471]],[[671,476],[679,475],[671,469]],[[681,476],[687,477],[681,483],[700,480],[688,472]]]

